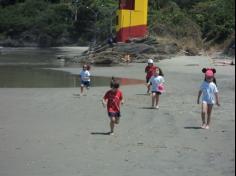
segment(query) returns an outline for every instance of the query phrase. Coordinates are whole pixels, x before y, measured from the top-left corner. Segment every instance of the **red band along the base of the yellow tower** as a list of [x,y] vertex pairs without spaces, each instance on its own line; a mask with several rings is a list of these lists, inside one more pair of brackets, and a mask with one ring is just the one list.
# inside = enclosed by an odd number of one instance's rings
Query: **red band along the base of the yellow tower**
[[120,42],[127,42],[130,38],[140,38],[147,35],[147,26],[131,26],[127,28],[122,28],[117,33],[117,40]]

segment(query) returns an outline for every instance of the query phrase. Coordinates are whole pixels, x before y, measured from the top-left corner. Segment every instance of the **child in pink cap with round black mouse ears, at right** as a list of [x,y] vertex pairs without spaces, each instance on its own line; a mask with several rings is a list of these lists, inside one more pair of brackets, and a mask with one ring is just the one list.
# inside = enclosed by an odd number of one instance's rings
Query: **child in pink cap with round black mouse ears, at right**
[[215,69],[204,68],[202,72],[205,73],[205,80],[200,87],[197,103],[200,104],[200,97],[202,96],[202,101],[201,101],[202,128],[209,129],[211,123],[211,113],[213,105],[216,103],[217,106],[220,106],[220,103],[219,103],[218,89],[216,84],[214,83],[215,81],[214,73],[216,73]]

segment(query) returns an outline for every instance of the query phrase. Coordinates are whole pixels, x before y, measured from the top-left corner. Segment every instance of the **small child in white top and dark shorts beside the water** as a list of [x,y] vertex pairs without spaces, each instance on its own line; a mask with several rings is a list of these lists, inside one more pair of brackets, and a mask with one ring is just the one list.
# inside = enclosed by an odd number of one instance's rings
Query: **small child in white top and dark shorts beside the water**
[[87,90],[90,88],[90,67],[88,65],[84,65],[83,66],[83,70],[80,72],[80,80],[81,80],[81,84],[80,84],[80,91],[81,94],[84,93],[84,87],[87,88]]

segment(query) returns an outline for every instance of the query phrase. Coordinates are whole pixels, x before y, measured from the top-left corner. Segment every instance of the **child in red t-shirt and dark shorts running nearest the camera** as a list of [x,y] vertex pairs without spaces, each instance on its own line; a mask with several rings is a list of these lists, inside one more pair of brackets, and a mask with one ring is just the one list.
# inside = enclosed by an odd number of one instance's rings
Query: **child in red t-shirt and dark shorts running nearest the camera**
[[123,93],[119,90],[120,84],[115,81],[111,90],[107,91],[103,97],[103,106],[107,106],[108,116],[110,118],[110,135],[114,134],[115,124],[119,124],[121,117],[120,104],[124,103]]

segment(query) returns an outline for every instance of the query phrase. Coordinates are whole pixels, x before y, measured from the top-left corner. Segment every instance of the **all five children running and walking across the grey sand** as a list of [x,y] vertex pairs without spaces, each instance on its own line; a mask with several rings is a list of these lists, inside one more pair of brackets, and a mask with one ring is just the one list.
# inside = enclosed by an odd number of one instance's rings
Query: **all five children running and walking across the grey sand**
[[[88,65],[83,66],[83,70],[80,73],[81,78],[81,93],[84,91],[84,87],[89,89],[90,87],[90,67]],[[152,108],[159,109],[160,95],[165,91],[164,88],[164,74],[162,70],[154,65],[152,59],[148,60],[148,65],[145,68],[147,94],[152,95]],[[203,129],[210,128],[211,113],[213,105],[220,106],[218,89],[215,80],[216,70],[214,68],[204,68],[202,72],[205,74],[205,79],[200,86],[198,93],[197,103],[201,102],[201,117]],[[110,83],[110,90],[107,91],[102,98],[102,104],[107,108],[108,116],[110,118],[110,135],[114,134],[114,128],[116,124],[119,124],[121,117],[120,105],[124,104],[123,93],[119,89],[119,80],[112,77]],[[200,98],[202,97],[201,101]]]

